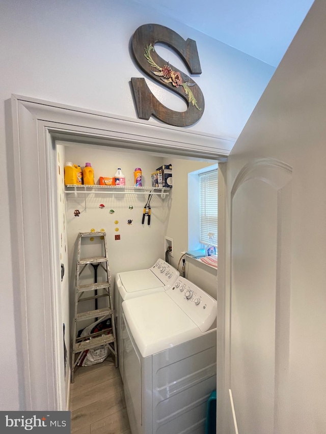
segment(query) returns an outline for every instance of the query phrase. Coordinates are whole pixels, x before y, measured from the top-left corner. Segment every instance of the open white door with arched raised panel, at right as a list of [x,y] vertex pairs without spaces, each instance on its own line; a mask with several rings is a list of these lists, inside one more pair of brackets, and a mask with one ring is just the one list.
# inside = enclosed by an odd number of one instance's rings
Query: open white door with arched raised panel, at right
[[[232,381],[226,383],[224,395],[228,397],[228,389],[235,388],[237,395],[233,393],[233,398],[239,432],[321,434],[326,430],[325,21],[326,3],[316,0],[238,138],[232,150],[231,163],[228,163],[233,261],[229,274],[226,273],[232,299],[230,297],[225,303],[229,306],[230,315],[234,316],[230,319],[226,311],[226,330],[230,327],[231,344],[228,336],[221,339],[221,344],[228,349],[227,363],[231,360],[233,365],[236,361],[237,366],[241,366],[241,370],[235,367],[233,371],[231,366]],[[253,169],[254,159],[282,167],[284,173],[288,171],[288,178],[279,175],[275,176],[276,181],[273,179],[271,182],[271,171],[265,170],[265,173],[262,169],[257,175]],[[256,180],[269,181],[275,190],[277,182],[282,179],[283,185],[277,187],[277,199],[276,191],[272,195],[271,188],[267,191],[266,184],[262,184],[264,190],[257,188],[258,183],[253,182],[254,175],[251,173],[255,173]],[[263,218],[263,211],[255,208],[255,201],[248,200],[250,190],[255,191],[256,196],[263,194],[263,199],[275,200],[269,211],[270,218]],[[251,206],[251,212],[255,210],[260,218],[255,216],[256,220],[252,220],[257,229],[250,225],[243,227],[242,220],[242,232],[239,230],[235,235],[234,227],[239,225],[240,215],[236,211],[243,212],[240,201],[244,206]],[[247,218],[250,215],[248,213]],[[276,227],[278,232],[270,240],[270,234],[273,230],[276,232]],[[241,243],[246,244],[253,231],[262,236],[259,240],[253,236],[251,245],[242,249]],[[268,246],[268,242],[273,242],[274,253],[265,254],[263,249],[259,250],[262,245]],[[257,252],[251,250],[256,245],[262,262],[259,262],[260,259],[254,262]],[[261,266],[266,258],[271,259],[269,264],[280,262],[270,269],[271,266]],[[257,266],[257,263],[260,265]],[[257,270],[259,266],[261,268]],[[239,273],[241,267],[246,268],[243,275]],[[268,276],[265,282],[265,277],[259,276],[261,270],[264,276]],[[249,286],[250,282],[256,284],[253,292],[251,288],[247,291],[248,282]],[[264,286],[269,290],[268,295],[264,293]],[[272,302],[269,301],[270,294],[275,295]],[[250,306],[253,295],[257,301],[254,308],[257,315]],[[243,324],[248,325],[247,330],[237,328],[241,319],[244,319]],[[263,336],[266,324],[273,324],[269,329],[275,334],[269,344],[268,335],[265,333]],[[258,335],[263,336],[263,345],[259,344]],[[257,383],[253,383],[252,374],[257,364]],[[273,372],[273,375],[270,375],[267,381],[271,382],[268,386],[264,384],[267,387],[261,393],[259,388],[263,383],[260,379],[265,378],[264,371]],[[228,366],[225,372],[228,376]],[[248,397],[254,399],[248,401]],[[248,403],[252,405],[254,400],[257,405],[250,409]],[[274,418],[268,420],[273,413]],[[248,430],[249,426],[251,429]],[[231,430],[234,432],[233,428]],[[221,432],[226,432],[226,429],[221,429]]]

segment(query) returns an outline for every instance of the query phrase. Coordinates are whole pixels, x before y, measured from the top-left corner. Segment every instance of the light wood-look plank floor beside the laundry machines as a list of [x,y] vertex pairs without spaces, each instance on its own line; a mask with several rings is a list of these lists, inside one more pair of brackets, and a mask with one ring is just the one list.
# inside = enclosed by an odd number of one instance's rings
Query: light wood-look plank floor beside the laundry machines
[[119,368],[111,356],[76,368],[70,411],[74,434],[131,434]]

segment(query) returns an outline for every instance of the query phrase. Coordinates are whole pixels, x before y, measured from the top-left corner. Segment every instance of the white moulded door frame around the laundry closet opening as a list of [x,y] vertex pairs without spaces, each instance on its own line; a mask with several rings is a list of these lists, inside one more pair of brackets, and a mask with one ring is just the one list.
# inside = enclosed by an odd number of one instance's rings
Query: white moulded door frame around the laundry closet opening
[[21,311],[16,337],[23,409],[66,410],[55,141],[216,160],[226,158],[234,141],[18,95],[11,103],[12,249],[18,263],[13,279]]

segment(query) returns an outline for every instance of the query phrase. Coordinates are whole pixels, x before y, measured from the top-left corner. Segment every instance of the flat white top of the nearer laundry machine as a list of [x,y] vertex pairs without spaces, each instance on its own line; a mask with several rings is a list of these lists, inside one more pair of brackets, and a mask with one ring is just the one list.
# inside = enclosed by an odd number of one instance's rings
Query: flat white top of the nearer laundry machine
[[122,307],[143,357],[202,335],[196,324],[165,292],[125,300]]

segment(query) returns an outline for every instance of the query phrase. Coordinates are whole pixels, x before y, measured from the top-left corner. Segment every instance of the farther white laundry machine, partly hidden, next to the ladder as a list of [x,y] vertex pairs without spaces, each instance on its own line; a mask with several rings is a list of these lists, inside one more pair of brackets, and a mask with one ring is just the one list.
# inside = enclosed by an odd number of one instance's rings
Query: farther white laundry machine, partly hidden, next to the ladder
[[158,258],[145,270],[117,273],[115,276],[115,312],[117,316],[118,364],[123,381],[122,308],[123,300],[165,291],[180,273],[172,265]]

